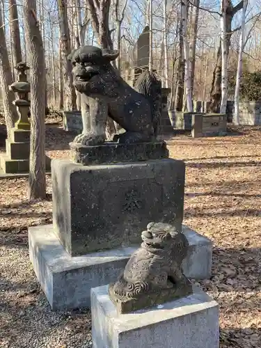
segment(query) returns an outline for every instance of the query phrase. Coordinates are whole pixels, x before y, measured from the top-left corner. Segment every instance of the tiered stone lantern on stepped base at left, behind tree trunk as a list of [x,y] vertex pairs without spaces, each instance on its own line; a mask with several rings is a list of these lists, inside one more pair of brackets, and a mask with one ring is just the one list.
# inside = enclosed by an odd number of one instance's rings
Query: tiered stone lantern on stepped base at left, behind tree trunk
[[[30,101],[30,84],[27,81],[26,63],[18,63],[18,81],[9,86],[10,90],[17,93],[13,104],[17,106],[18,120],[15,127],[10,130],[10,139],[6,139],[6,154],[1,155],[0,165],[4,173],[29,173],[30,157],[30,122],[28,119]],[[50,168],[50,159],[46,157],[47,169]]]

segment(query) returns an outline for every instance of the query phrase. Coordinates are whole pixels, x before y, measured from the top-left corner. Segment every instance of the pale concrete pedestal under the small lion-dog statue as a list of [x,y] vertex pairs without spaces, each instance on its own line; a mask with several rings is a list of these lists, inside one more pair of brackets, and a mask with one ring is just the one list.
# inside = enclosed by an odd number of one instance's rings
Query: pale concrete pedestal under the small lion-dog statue
[[219,305],[198,287],[161,306],[119,315],[108,286],[91,290],[93,348],[218,348]]

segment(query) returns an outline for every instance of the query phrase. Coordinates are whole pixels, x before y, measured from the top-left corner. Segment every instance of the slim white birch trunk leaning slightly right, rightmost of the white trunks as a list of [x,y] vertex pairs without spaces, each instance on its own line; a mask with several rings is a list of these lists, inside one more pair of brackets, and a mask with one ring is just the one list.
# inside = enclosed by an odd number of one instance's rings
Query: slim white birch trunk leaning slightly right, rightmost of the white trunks
[[235,87],[235,110],[233,115],[233,123],[234,125],[239,125],[239,90],[240,90],[240,82],[242,78],[242,70],[243,70],[243,49],[245,42],[245,24],[246,24],[246,8],[247,8],[248,0],[244,0],[243,3],[243,11],[242,11],[242,22],[241,22],[241,34],[239,39],[239,53],[238,53],[238,62],[237,62],[237,81]]

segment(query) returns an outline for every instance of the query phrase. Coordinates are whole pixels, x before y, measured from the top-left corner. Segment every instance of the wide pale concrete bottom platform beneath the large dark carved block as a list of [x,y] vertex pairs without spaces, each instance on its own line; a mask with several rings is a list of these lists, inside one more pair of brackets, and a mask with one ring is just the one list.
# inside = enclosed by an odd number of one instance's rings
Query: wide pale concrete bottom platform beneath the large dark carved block
[[[189,252],[183,263],[188,278],[211,275],[212,242],[183,226]],[[53,232],[52,225],[29,228],[29,255],[38,281],[53,310],[90,308],[90,289],[113,283],[137,246],[71,257]]]

